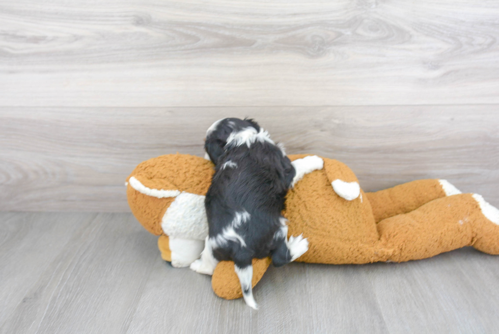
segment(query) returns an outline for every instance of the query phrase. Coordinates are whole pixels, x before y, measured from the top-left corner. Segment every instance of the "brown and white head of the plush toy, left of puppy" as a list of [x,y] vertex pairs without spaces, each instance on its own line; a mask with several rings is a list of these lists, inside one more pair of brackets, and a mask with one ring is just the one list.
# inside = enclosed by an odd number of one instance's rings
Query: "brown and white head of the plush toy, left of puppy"
[[209,160],[178,153],[144,161],[127,178],[133,215],[154,235],[204,239],[204,197],[213,167]]

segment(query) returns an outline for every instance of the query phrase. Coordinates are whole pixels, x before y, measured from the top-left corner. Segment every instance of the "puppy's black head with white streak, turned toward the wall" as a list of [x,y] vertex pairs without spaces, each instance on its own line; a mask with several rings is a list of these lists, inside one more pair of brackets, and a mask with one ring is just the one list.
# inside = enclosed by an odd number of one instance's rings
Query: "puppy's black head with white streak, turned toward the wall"
[[215,165],[224,154],[224,147],[227,145],[229,136],[247,127],[254,127],[257,132],[260,131],[260,125],[250,118],[223,118],[211,124],[206,132],[205,150]]

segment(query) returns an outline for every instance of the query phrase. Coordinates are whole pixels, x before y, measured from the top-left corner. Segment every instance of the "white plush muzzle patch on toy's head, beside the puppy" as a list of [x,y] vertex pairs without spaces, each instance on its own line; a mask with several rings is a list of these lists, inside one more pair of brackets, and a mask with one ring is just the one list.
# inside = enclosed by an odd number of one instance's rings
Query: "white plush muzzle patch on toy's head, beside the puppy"
[[161,219],[167,236],[203,240],[208,235],[205,196],[182,192]]

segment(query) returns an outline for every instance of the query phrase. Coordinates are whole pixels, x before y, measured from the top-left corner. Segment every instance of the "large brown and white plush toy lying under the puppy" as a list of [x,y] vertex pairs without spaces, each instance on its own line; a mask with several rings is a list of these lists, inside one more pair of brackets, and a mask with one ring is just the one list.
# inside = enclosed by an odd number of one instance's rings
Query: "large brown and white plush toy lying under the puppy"
[[[307,166],[312,161],[307,156],[289,158]],[[464,246],[499,254],[499,210],[482,196],[461,194],[439,179],[365,193],[345,164],[315,158],[322,160],[321,168],[310,168],[289,190],[283,212],[288,237],[303,234],[309,241],[309,250],[296,261],[403,262]],[[174,267],[189,266],[203,250],[208,235],[204,196],[213,167],[209,160],[177,153],[147,160],[127,178],[132,213],[150,233],[160,236],[161,257]],[[270,262],[253,261],[253,286]],[[226,299],[242,296],[232,262],[217,265],[212,288]]]

